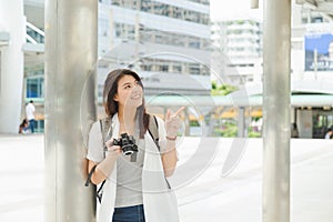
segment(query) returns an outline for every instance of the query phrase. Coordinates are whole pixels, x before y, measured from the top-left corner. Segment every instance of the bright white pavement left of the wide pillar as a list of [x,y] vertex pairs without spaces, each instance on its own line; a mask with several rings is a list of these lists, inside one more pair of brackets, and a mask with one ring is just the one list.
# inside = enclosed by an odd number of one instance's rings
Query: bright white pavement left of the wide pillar
[[43,135],[0,135],[0,221],[43,221]]

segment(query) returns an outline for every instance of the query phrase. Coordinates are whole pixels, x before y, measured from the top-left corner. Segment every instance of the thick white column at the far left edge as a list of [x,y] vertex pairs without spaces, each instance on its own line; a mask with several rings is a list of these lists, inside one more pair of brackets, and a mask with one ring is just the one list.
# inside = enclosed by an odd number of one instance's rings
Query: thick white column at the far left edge
[[8,46],[0,46],[0,133],[18,133],[24,105],[22,46],[26,42],[26,17],[22,0],[0,0],[0,31],[9,33],[10,39]]

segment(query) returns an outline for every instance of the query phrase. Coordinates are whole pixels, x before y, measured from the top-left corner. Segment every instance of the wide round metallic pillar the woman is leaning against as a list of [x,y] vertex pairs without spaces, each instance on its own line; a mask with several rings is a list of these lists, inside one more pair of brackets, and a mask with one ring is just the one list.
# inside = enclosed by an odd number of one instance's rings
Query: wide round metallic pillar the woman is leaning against
[[46,1],[44,221],[95,221],[84,186],[87,134],[97,115],[98,1]]

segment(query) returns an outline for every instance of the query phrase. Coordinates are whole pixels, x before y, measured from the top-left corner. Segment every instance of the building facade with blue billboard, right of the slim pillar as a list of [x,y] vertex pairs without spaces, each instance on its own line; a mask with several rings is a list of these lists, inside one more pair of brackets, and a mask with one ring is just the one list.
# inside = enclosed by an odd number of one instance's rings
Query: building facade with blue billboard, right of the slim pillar
[[[309,4],[294,4],[291,80],[294,93],[333,94],[332,16]],[[322,139],[333,127],[333,108],[295,107],[293,120],[302,138]]]

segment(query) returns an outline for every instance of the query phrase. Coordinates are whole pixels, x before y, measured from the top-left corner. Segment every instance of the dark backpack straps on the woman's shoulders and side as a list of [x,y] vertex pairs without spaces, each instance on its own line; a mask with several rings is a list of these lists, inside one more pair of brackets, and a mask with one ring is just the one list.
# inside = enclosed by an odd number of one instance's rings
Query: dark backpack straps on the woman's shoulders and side
[[[103,155],[105,158],[105,152],[108,151],[107,144],[105,142],[110,139],[108,138],[108,132],[110,130],[110,132],[112,132],[112,128],[111,128],[111,119],[110,118],[105,118],[105,119],[101,119],[100,120],[100,128],[101,128],[101,132],[102,132],[102,141],[103,141]],[[111,128],[111,129],[110,129]],[[151,135],[151,138],[153,139],[154,143],[157,144],[159,151],[160,151],[160,145],[159,145],[159,124],[158,124],[158,120],[155,115],[149,115],[149,125],[148,125],[148,132]],[[111,134],[111,133],[110,133]],[[88,174],[88,179],[85,181],[85,186],[89,186],[89,183],[91,182],[91,176],[92,173],[94,172],[95,168],[98,164],[95,164],[94,167],[92,167],[92,169],[90,170],[89,174]],[[104,180],[102,182],[102,184],[99,186],[99,189],[97,190],[97,199],[99,200],[99,202],[102,202],[102,195],[103,195],[103,186],[107,180]]]

